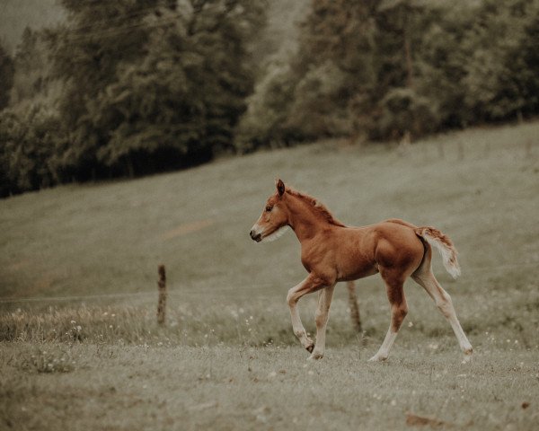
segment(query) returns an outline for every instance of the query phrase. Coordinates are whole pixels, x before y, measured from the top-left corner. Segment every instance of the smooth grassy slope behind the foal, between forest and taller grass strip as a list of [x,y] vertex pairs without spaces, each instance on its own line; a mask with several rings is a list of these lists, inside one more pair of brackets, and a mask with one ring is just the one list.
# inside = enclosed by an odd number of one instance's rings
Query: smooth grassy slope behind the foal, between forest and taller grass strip
[[248,236],[277,176],[346,224],[401,217],[437,226],[460,251],[455,291],[492,289],[499,277],[510,280],[499,288],[520,289],[539,261],[538,132],[537,123],[473,129],[403,155],[325,142],[4,199],[0,295],[152,291],[161,262],[182,292],[282,294],[304,277],[294,234],[270,244]]

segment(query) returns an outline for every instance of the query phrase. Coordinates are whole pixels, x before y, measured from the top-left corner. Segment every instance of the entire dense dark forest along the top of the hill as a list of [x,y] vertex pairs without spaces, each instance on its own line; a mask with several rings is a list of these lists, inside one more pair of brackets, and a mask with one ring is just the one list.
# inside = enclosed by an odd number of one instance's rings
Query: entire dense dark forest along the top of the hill
[[0,45],[0,196],[539,112],[539,0],[60,0]]

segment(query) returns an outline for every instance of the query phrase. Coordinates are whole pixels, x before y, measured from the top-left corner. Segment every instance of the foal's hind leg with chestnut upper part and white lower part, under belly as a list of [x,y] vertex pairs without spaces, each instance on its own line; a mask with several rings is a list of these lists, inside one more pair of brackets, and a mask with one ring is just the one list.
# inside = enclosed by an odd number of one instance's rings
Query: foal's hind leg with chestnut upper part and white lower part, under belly
[[389,351],[393,346],[397,333],[401,328],[402,321],[408,313],[408,305],[404,297],[404,280],[402,275],[393,275],[390,271],[380,269],[380,275],[384,279],[387,299],[391,305],[391,323],[387,334],[385,334],[382,346],[376,352],[376,355],[369,359],[369,362],[384,361],[389,356]]

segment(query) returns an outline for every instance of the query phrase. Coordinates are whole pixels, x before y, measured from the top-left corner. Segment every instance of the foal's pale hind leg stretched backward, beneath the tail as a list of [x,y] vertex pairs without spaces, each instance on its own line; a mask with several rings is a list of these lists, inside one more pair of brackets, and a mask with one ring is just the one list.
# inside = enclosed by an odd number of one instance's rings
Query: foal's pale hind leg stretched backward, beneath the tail
[[436,277],[432,273],[430,265],[422,265],[416,273],[411,276],[416,283],[422,286],[429,296],[434,300],[438,310],[446,317],[447,321],[451,324],[451,328],[455,332],[456,339],[464,352],[465,359],[468,360],[472,355],[472,345],[466,338],[464,330],[462,329],[458,319],[456,318],[455,308],[451,301],[451,296],[439,285]]

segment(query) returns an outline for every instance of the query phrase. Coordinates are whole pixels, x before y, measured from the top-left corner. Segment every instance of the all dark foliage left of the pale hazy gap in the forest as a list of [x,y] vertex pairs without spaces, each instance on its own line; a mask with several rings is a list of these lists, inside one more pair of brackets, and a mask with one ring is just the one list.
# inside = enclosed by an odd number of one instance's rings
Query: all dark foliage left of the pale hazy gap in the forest
[[234,150],[263,0],[61,4],[66,24],[28,31],[19,47],[22,84],[0,114],[4,196],[185,168]]

